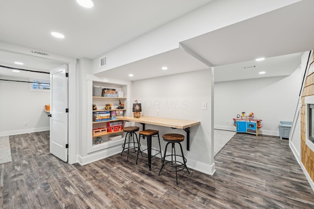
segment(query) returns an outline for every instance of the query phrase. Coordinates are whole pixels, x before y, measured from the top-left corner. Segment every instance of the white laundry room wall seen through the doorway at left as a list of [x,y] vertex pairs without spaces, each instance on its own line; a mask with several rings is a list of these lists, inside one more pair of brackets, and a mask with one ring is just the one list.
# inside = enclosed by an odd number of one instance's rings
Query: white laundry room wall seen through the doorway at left
[[30,91],[29,83],[0,80],[0,136],[49,130],[45,104],[50,104],[50,92]]

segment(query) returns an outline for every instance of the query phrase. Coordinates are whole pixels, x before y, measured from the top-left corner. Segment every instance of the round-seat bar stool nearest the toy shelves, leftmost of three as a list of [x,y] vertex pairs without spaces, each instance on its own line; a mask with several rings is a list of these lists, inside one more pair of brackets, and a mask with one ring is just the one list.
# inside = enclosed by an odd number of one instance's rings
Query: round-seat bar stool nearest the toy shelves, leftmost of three
[[[128,126],[128,127],[123,128],[123,131],[127,132],[127,134],[126,134],[126,137],[124,138],[124,143],[122,145],[121,156],[122,156],[122,153],[127,150],[128,151],[127,160],[129,160],[130,150],[134,149],[133,152],[135,153],[135,152],[137,152],[136,148],[139,150],[139,147],[141,146],[140,143],[138,142],[138,138],[137,138],[137,134],[136,134],[136,131],[138,131],[138,130],[139,130],[139,127],[137,127],[137,126]],[[134,141],[134,135],[136,136],[136,142]],[[127,141],[127,139],[128,139],[128,141]],[[133,139],[133,142],[131,141],[131,139]],[[133,145],[132,145],[132,143],[133,143]],[[126,146],[126,145],[128,145],[128,146]]]

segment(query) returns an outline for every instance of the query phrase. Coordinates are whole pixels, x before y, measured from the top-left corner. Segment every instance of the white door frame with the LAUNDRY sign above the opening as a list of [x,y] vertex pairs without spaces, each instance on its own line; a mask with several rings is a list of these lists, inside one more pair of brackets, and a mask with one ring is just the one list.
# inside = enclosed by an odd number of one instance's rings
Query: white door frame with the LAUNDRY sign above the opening
[[77,107],[76,107],[76,64],[77,59],[62,56],[58,54],[53,54],[50,52],[46,52],[48,55],[40,55],[40,54],[34,54],[31,53],[31,51],[38,51],[38,52],[44,52],[42,50],[34,49],[34,48],[27,48],[22,47],[14,44],[9,44],[5,42],[0,41],[0,50],[6,51],[6,52],[12,52],[12,53],[19,53],[29,56],[35,56],[40,57],[43,59],[47,59],[54,62],[59,62],[61,64],[67,64],[68,65],[68,71],[69,71],[69,83],[68,83],[68,100],[69,100],[69,128],[68,128],[68,135],[69,135],[69,149],[68,149],[68,163],[73,164],[78,162],[77,157],[77,122],[76,122],[76,115],[77,115]]

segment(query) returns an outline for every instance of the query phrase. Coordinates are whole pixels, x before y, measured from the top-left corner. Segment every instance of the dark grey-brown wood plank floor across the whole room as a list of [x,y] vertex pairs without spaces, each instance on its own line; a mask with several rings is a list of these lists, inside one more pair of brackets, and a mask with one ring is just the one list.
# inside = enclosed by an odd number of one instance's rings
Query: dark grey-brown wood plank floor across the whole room
[[152,171],[147,159],[115,155],[85,166],[49,154],[49,131],[10,136],[12,162],[0,165],[3,209],[314,208],[314,192],[276,137],[235,134],[215,157],[216,173]]

